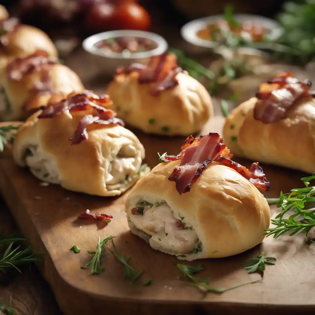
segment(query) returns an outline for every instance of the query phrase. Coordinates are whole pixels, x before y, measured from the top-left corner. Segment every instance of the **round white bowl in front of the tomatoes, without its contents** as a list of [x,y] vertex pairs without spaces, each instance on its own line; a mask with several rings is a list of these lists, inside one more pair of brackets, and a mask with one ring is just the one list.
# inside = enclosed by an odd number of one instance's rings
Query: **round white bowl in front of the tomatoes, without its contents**
[[[96,46],[97,43],[108,38],[129,36],[150,39],[157,44],[157,48],[138,53],[131,53],[128,57],[125,57],[121,53],[104,51]],[[92,35],[83,41],[82,47],[90,54],[89,66],[93,67],[92,72],[95,74],[98,73],[105,76],[111,76],[119,66],[128,67],[131,63],[146,64],[152,56],[165,53],[168,49],[168,44],[163,37],[155,33],[136,30],[116,30]]]

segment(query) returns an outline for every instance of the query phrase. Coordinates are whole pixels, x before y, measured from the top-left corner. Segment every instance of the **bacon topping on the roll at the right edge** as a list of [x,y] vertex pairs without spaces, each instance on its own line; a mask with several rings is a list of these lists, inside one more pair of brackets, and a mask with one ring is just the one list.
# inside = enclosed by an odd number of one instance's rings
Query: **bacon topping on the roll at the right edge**
[[291,72],[279,74],[259,87],[254,118],[263,123],[277,122],[301,97],[311,96],[309,80],[299,81]]

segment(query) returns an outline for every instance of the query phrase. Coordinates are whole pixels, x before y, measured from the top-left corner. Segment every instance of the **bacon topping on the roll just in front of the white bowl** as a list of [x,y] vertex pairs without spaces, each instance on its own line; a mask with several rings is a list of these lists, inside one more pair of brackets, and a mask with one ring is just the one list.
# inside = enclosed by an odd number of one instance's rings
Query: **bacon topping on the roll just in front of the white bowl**
[[128,69],[120,67],[117,69],[116,74],[128,74],[134,71],[139,72],[139,84],[152,83],[151,94],[153,96],[158,96],[161,91],[177,85],[176,75],[184,72],[177,65],[176,56],[169,53],[153,56],[146,66],[132,64]]

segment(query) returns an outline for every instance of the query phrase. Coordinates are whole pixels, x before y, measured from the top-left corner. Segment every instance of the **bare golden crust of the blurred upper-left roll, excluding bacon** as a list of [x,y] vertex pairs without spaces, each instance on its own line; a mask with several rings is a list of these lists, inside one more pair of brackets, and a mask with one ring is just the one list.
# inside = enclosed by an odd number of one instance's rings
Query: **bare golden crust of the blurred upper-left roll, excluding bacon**
[[44,50],[49,56],[58,57],[58,51],[49,36],[34,26],[20,24],[7,36],[8,45],[0,49],[3,54],[24,58],[37,50]]

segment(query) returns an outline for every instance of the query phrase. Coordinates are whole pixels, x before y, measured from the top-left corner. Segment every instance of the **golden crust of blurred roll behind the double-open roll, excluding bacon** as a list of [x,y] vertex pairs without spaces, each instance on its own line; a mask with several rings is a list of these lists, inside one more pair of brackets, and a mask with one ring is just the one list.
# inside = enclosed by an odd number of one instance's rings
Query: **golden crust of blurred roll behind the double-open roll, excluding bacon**
[[33,110],[46,106],[49,101],[60,101],[73,91],[84,91],[80,78],[70,68],[59,63],[48,67],[51,93],[38,93],[34,90],[34,83],[41,81],[40,71],[27,74],[20,81],[10,79],[6,69],[0,72],[1,83],[10,103],[9,111],[0,111],[2,120],[25,119]]

